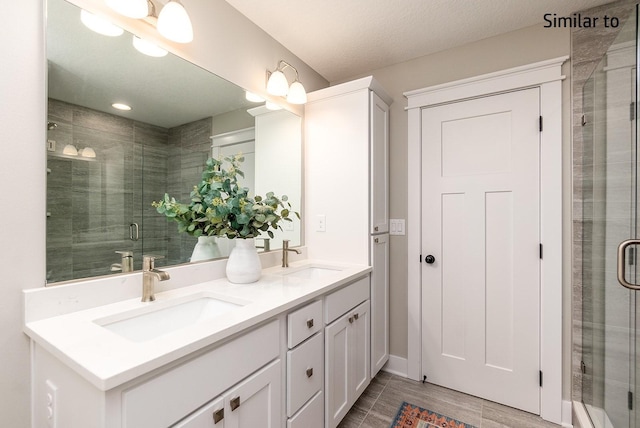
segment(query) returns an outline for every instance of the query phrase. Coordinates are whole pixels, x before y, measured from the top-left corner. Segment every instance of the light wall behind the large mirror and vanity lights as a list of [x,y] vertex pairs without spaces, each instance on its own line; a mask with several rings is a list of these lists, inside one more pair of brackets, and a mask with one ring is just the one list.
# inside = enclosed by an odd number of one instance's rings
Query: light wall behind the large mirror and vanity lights
[[[90,9],[101,0],[74,0]],[[29,341],[22,292],[45,281],[46,93],[44,0],[3,5],[0,26],[0,425],[30,426]],[[195,39],[166,45],[245,89],[263,93],[265,70],[285,59],[307,90],[327,82],[223,0],[190,0]],[[120,22],[124,27],[144,25]],[[302,111],[301,108],[293,110]]]

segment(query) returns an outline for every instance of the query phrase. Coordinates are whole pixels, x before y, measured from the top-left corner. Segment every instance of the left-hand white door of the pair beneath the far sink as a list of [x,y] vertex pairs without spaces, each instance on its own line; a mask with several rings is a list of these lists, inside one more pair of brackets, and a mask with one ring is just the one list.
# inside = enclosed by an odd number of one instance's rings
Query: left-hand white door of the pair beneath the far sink
[[[325,329],[325,421],[334,428],[349,411],[349,318],[348,313]],[[353,321],[352,321],[353,322]]]

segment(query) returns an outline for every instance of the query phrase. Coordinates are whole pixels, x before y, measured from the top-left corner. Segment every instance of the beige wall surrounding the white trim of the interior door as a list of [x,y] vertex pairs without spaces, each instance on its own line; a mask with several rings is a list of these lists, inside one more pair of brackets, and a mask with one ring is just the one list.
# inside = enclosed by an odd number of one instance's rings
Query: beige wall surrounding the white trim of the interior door
[[[542,25],[506,33],[462,47],[424,56],[362,75],[373,75],[393,97],[391,105],[391,218],[407,218],[407,100],[404,92],[503,70],[570,54],[567,29],[545,29]],[[570,293],[571,293],[571,138],[570,138],[570,65],[563,66],[563,391],[570,389]],[[341,82],[331,82],[332,84]],[[407,224],[407,233],[413,233]],[[391,354],[407,357],[407,260],[406,236],[391,236]],[[420,340],[420,338],[411,338]]]

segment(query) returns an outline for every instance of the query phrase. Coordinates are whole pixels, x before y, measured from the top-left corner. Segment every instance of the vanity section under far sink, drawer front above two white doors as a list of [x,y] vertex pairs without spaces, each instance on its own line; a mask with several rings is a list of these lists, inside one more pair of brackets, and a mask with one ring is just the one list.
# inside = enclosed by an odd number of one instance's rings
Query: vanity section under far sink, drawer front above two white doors
[[369,278],[325,300],[325,427],[335,428],[371,381]]

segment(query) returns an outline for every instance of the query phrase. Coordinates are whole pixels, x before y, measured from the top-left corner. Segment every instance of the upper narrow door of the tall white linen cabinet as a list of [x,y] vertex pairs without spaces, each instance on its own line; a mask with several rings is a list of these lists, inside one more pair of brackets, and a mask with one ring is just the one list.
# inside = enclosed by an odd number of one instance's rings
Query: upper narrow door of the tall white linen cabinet
[[389,231],[389,106],[371,92],[371,233]]

